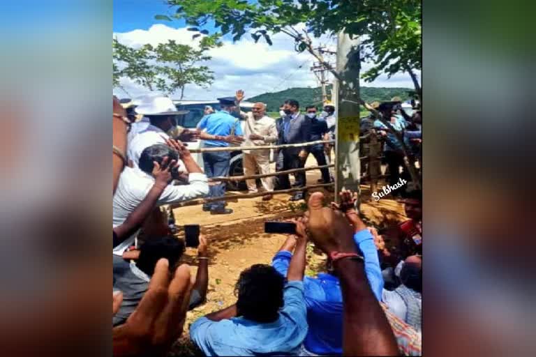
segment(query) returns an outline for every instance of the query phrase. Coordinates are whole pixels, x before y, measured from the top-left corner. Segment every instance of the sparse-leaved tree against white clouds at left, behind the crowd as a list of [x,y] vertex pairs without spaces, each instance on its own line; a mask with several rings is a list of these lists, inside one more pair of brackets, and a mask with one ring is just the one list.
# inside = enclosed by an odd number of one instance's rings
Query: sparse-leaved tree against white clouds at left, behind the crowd
[[119,86],[121,77],[128,77],[149,91],[158,89],[172,94],[179,90],[182,99],[187,84],[207,86],[214,80],[207,66],[197,64],[211,59],[204,53],[220,45],[218,38],[217,35],[202,38],[198,50],[174,40],[156,47],[143,45],[135,49],[114,39],[114,86]]

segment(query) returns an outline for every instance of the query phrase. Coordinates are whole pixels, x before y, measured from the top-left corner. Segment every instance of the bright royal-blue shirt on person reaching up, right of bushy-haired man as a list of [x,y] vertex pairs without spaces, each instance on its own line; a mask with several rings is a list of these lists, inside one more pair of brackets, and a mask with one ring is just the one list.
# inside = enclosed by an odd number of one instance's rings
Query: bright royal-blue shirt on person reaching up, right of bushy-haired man
[[[363,253],[365,273],[374,296],[381,301],[383,278],[374,238],[368,229],[354,235],[355,243]],[[278,252],[271,265],[285,275],[291,252]],[[309,330],[304,341],[307,351],[314,354],[342,354],[343,352],[343,296],[338,278],[320,273],[316,278],[304,278],[305,303]]]

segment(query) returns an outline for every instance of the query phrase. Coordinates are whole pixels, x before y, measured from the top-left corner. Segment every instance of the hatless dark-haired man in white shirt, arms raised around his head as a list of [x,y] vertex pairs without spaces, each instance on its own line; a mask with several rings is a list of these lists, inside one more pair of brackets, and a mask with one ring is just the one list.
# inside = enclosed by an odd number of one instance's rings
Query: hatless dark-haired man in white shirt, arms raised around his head
[[[207,176],[193,160],[190,151],[186,147],[177,144],[177,150],[171,149],[165,144],[149,146],[142,151],[139,165],[137,167],[125,167],[119,177],[119,183],[113,200],[113,227],[121,225],[128,215],[147,196],[147,193],[154,184],[151,172],[154,162],[161,163],[167,156],[168,160],[179,160],[184,162],[186,170],[189,172],[188,185],[168,185],[156,202],[157,205],[173,204],[188,199],[200,198],[208,195],[209,184]],[[114,255],[122,255],[130,245],[133,244],[137,232],[127,238],[123,243],[114,248]]]

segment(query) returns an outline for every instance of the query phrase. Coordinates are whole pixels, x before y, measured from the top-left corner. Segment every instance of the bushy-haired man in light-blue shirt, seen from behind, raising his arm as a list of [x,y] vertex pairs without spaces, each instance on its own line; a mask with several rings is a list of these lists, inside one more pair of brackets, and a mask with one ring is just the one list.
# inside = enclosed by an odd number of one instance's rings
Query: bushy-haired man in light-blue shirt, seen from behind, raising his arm
[[237,303],[196,320],[190,337],[207,356],[297,354],[307,334],[304,278],[306,238],[297,238],[287,282],[255,264],[240,273]]

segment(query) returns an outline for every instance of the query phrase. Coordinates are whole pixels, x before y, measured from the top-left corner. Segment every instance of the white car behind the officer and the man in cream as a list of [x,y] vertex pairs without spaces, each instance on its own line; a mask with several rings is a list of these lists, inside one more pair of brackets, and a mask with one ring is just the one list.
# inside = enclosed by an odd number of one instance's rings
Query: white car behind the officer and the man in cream
[[[220,104],[218,100],[173,100],[177,110],[188,110],[187,114],[182,114],[177,116],[177,125],[183,126],[188,129],[195,129],[198,126],[199,121],[204,116],[204,107],[210,105],[214,110],[218,111],[220,109]],[[242,112],[251,112],[253,103],[251,102],[241,102],[240,109]],[[245,121],[240,119],[240,124],[242,130],[244,131]],[[188,142],[188,149],[200,149],[202,145],[202,140],[197,142]],[[203,167],[203,155],[201,153],[192,153],[195,162],[198,163],[200,167]],[[244,175],[244,167],[242,166],[242,152],[232,151],[231,152],[231,163],[229,169],[230,176],[242,176]],[[244,181],[239,182],[229,182],[229,190],[246,190],[246,183]]]

